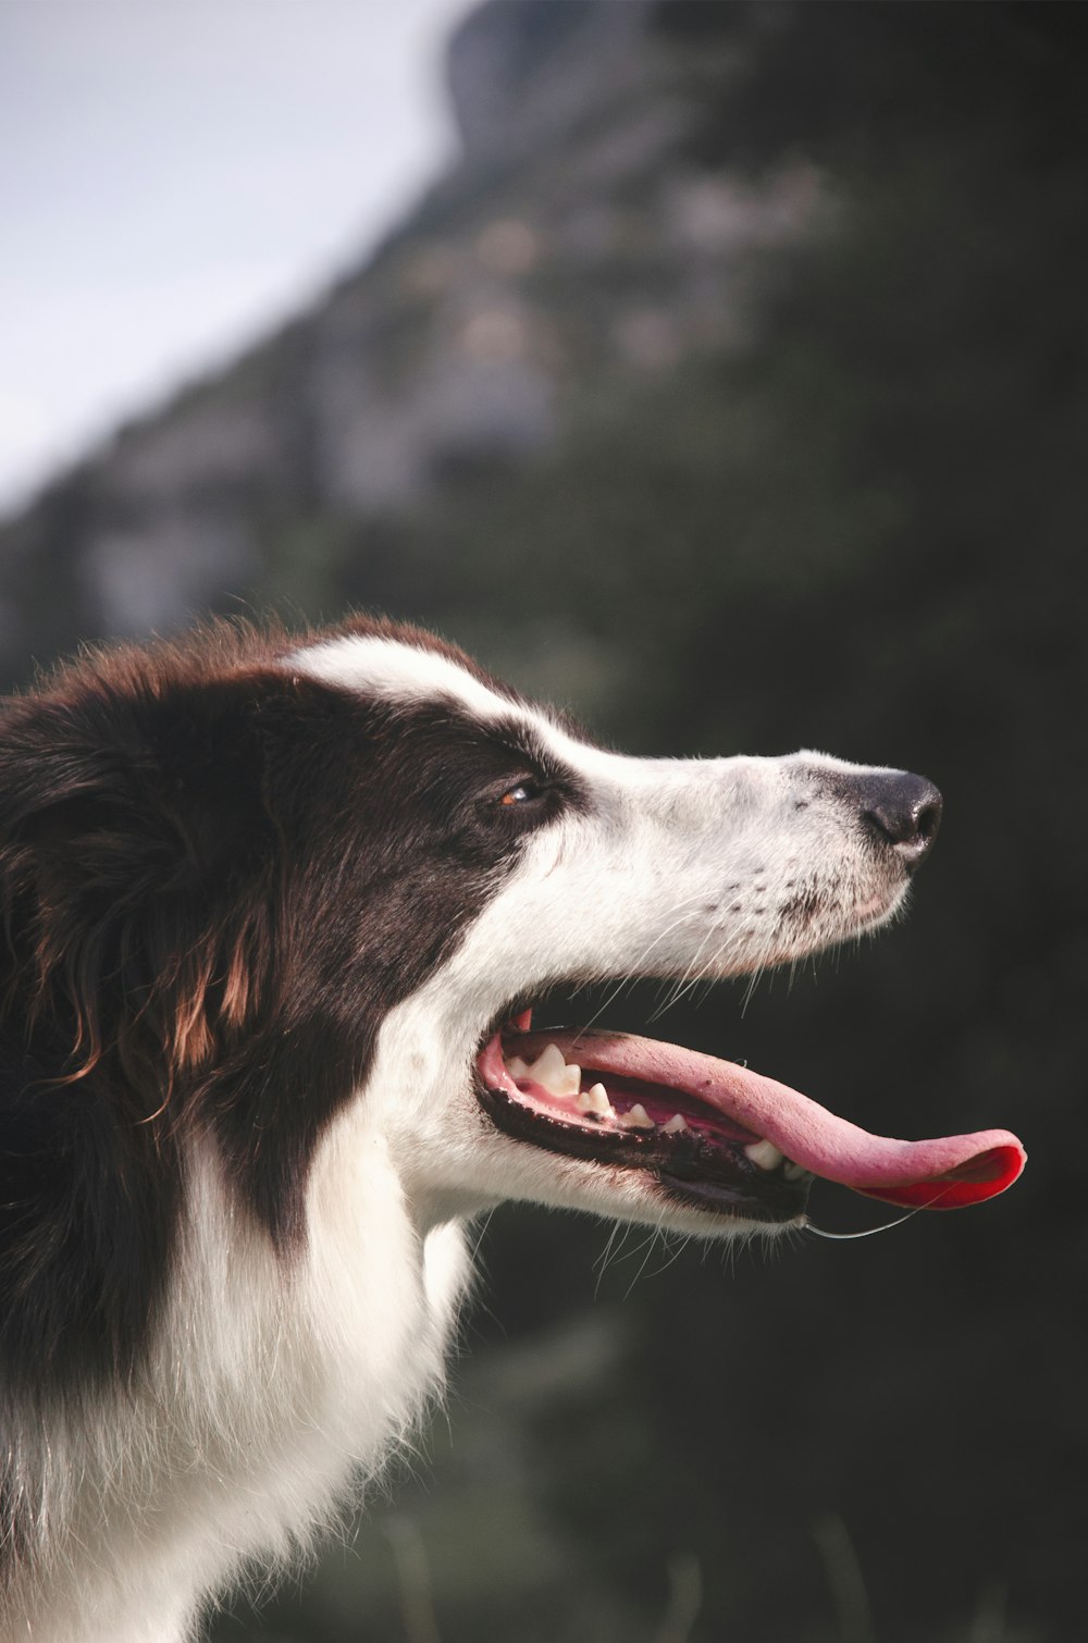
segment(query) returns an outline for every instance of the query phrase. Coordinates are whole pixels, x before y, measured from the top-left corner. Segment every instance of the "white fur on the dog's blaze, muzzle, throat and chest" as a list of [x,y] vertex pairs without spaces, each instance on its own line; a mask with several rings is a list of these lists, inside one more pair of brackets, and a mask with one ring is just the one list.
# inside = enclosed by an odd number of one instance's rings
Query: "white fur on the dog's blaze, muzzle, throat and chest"
[[546,1153],[483,1119],[473,1056],[514,992],[575,974],[751,971],[791,956],[777,914],[802,886],[830,910],[794,953],[873,928],[902,897],[814,784],[853,766],[602,752],[390,639],[325,642],[293,667],[345,690],[529,716],[593,807],[529,840],[452,956],[386,1019],[367,1088],[320,1142],[299,1267],[233,1208],[210,1147],[191,1160],[186,1244],[151,1360],[128,1392],[58,1416],[41,1462],[51,1549],[0,1620],[5,1643],[181,1643],[248,1559],[304,1546],[440,1392],[468,1285],[462,1226],[486,1204],[518,1196],[751,1231],[669,1209],[639,1171]]

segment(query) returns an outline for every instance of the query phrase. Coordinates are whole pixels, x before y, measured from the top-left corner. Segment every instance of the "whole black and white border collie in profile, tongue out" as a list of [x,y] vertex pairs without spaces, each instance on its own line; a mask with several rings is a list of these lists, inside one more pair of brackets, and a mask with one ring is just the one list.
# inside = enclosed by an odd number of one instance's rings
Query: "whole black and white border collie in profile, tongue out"
[[725,1237],[814,1173],[970,1203],[1004,1132],[869,1137],[557,983],[733,976],[886,922],[919,777],[592,746],[352,621],[85,656],[0,715],[0,1636],[179,1643],[442,1383],[465,1217]]

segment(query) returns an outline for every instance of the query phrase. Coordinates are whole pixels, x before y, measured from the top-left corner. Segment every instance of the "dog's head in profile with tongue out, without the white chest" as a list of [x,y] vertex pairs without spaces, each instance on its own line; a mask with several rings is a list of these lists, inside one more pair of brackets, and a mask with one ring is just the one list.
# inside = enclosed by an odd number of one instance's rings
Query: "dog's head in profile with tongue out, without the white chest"
[[[286,1252],[348,1109],[424,1217],[513,1194],[795,1224],[841,1142],[802,1098],[606,1035],[542,1070],[524,1012],[556,983],[731,976],[874,930],[938,817],[929,782],[822,754],[606,752],[383,623],[79,660],[0,725],[12,1291],[76,1254],[112,1351],[164,1270],[186,1145]],[[988,1196],[1012,1153],[983,1140],[843,1178],[904,1201],[975,1170]],[[127,1236],[151,1201],[158,1237]],[[131,1245],[108,1296],[102,1239]]]

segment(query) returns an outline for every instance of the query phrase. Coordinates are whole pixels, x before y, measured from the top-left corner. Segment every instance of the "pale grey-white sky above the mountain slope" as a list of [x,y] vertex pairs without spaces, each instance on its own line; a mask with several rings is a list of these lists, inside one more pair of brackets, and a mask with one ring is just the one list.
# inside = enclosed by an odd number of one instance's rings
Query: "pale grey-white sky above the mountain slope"
[[455,153],[470,0],[0,0],[0,509],[232,358]]

